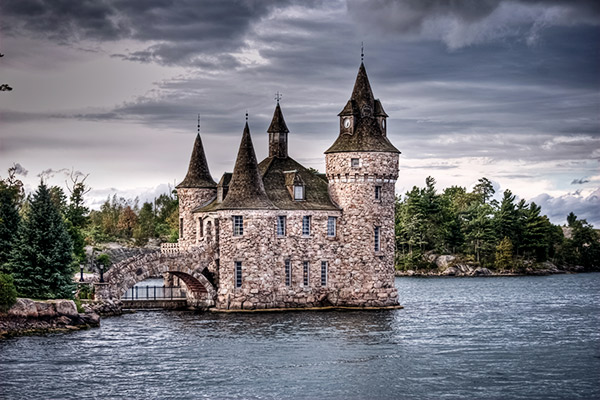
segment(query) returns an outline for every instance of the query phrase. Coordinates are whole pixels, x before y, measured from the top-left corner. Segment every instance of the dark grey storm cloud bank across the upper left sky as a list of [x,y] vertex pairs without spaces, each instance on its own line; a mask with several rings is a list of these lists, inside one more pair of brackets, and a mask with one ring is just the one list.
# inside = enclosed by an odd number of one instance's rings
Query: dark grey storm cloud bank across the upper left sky
[[[154,44],[115,57],[206,69],[238,66],[228,53],[244,47],[253,23],[289,1],[5,0],[2,28],[58,43],[133,39]],[[303,3],[311,7],[315,1]]]

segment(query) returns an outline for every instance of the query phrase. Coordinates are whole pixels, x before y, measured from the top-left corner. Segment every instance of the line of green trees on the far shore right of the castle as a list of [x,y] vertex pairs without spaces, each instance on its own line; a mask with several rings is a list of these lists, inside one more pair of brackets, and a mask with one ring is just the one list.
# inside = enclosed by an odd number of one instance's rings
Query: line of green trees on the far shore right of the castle
[[427,267],[423,255],[459,254],[481,266],[511,270],[552,261],[559,265],[600,266],[599,235],[571,213],[568,235],[541,214],[534,202],[516,202],[505,190],[493,200],[492,183],[481,178],[471,192],[452,186],[438,193],[435,179],[396,199],[396,266]]

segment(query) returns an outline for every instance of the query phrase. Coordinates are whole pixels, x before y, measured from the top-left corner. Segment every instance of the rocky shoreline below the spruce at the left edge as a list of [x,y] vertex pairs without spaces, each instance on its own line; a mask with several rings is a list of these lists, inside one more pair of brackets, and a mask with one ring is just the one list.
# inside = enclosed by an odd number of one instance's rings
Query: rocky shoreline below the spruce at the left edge
[[0,338],[68,332],[100,326],[100,316],[92,309],[79,313],[73,300],[31,300],[18,298],[0,313]]

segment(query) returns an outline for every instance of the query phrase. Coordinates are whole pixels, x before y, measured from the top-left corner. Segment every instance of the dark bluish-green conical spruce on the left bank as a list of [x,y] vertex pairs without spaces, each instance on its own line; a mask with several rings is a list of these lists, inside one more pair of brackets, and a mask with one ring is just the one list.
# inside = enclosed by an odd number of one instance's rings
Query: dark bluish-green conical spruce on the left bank
[[8,263],[19,295],[71,298],[73,244],[63,217],[42,182],[31,199]]

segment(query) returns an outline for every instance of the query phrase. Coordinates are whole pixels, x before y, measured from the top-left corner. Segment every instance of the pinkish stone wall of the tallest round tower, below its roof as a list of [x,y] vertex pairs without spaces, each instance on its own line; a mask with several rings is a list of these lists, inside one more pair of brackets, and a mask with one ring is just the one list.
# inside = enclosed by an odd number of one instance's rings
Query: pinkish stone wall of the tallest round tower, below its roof
[[[351,160],[359,160],[358,167]],[[345,285],[339,301],[346,305],[398,304],[394,286],[394,208],[398,154],[348,152],[326,155],[331,198],[344,210],[340,231],[346,254]],[[380,186],[380,199],[375,187]],[[380,227],[380,250],[375,250],[375,227]]]

